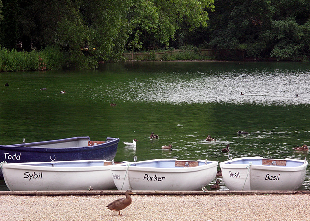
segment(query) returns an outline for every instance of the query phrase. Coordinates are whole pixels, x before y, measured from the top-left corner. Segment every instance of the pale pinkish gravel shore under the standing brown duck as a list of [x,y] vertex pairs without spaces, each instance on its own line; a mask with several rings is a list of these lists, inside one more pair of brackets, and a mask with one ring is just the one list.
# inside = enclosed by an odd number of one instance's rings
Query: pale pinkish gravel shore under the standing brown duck
[[310,195],[134,195],[121,211],[106,209],[120,195],[0,195],[0,221],[309,221]]

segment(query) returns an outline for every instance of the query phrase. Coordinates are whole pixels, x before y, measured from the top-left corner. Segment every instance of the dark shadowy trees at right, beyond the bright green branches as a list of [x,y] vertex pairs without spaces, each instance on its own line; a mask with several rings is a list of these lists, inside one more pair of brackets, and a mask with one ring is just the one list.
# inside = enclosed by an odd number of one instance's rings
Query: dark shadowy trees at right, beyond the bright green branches
[[216,0],[207,44],[244,49],[251,57],[305,60],[310,49],[309,0]]

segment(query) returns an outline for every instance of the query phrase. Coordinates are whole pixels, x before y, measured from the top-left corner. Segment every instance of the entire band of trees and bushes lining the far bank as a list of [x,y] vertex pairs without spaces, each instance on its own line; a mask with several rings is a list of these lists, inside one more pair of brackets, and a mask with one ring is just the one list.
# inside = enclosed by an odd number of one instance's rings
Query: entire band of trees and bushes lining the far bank
[[33,50],[47,69],[95,68],[124,51],[184,46],[309,60],[310,1],[0,0],[0,46],[8,71],[24,69],[8,67],[8,55]]

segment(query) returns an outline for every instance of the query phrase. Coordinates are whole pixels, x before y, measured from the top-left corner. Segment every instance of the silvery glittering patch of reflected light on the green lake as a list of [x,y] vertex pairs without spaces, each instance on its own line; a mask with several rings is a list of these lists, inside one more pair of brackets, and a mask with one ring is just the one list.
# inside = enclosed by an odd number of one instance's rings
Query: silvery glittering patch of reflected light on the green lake
[[[239,103],[298,105],[310,103],[310,72],[304,70],[214,70],[145,73],[127,76],[121,86],[111,82],[104,93],[111,100],[161,103]],[[102,91],[101,91],[102,92]],[[244,95],[241,95],[243,92]],[[296,95],[298,94],[298,97]]]

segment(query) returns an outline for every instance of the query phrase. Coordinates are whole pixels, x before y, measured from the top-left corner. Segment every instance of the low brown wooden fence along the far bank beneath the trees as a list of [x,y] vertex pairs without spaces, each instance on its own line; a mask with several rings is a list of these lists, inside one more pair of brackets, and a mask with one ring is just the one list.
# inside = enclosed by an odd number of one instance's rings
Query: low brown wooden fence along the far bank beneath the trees
[[[123,53],[122,56],[127,60],[162,60],[164,57],[171,57],[183,52],[194,52],[194,50],[173,50],[165,52],[130,52]],[[199,49],[198,54],[200,56],[234,56],[241,57],[244,60],[244,51],[242,50],[216,50],[216,49]]]

